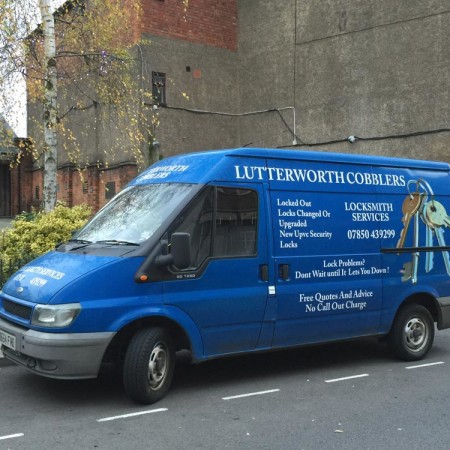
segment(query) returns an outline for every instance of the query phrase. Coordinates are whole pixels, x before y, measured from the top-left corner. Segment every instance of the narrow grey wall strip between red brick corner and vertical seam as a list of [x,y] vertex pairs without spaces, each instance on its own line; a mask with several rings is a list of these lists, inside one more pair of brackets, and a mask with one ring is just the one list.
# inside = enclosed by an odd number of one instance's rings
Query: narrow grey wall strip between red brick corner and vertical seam
[[[295,3],[238,1],[238,77],[240,112],[294,106]],[[292,110],[280,114],[293,128]],[[243,116],[241,145],[280,146],[292,134],[277,112]]]

